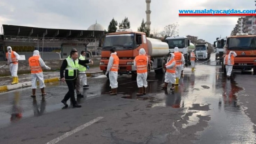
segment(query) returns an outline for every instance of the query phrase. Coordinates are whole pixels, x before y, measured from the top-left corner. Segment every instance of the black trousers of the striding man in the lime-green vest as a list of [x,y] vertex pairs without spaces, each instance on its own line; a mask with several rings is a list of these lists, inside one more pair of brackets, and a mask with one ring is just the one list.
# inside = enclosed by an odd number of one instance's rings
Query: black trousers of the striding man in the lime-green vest
[[68,99],[70,98],[70,101],[72,102],[72,104],[76,104],[76,98],[74,96],[74,90],[75,90],[75,86],[76,86],[76,80],[66,80],[66,83],[68,85],[68,93],[65,95],[64,97],[64,101],[68,101]]

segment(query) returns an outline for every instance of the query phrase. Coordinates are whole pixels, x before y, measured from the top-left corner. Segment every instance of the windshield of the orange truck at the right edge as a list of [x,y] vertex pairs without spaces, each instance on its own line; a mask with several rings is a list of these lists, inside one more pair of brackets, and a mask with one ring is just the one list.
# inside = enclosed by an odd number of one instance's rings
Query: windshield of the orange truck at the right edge
[[255,37],[244,37],[244,38],[229,38],[228,49],[231,51],[235,50],[255,50],[256,49],[256,38]]

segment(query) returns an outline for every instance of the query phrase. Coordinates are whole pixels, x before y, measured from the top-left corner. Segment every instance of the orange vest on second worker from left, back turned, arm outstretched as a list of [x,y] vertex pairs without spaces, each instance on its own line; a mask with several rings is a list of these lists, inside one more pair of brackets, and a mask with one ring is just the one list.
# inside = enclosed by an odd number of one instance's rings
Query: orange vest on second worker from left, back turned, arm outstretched
[[37,74],[43,72],[42,67],[40,66],[39,56],[32,56],[29,58],[29,66],[31,74]]

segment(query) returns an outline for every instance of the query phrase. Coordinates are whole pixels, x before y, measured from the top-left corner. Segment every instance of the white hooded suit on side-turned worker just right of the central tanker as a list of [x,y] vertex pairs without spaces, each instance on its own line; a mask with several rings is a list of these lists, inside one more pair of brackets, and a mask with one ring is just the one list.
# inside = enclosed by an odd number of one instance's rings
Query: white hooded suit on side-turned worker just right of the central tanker
[[[172,59],[174,59],[174,56],[175,56],[174,53],[170,53],[170,54],[171,54],[171,57],[168,58],[168,62],[171,61]],[[167,62],[167,64],[168,64],[168,62]],[[176,62],[173,61],[170,65],[167,65],[167,64],[166,64],[166,69],[172,69],[176,65]],[[165,83],[174,84],[175,83],[175,78],[176,78],[175,73],[168,73],[166,71],[166,73],[165,73]]]

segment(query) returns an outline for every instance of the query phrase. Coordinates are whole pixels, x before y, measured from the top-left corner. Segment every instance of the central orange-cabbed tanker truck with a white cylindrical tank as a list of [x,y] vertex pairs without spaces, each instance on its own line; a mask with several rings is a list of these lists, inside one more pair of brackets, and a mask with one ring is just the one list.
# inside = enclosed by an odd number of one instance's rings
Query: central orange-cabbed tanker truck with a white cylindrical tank
[[[101,42],[99,47],[101,47]],[[109,51],[115,49],[119,57],[118,74],[131,74],[132,79],[136,80],[137,73],[133,62],[141,48],[145,49],[146,56],[149,58],[148,69],[156,69],[154,70],[156,74],[164,74],[163,66],[165,66],[169,54],[168,44],[158,39],[148,38],[144,32],[133,32],[131,29],[118,29],[116,32],[104,36],[100,69],[106,73],[110,57]]]

